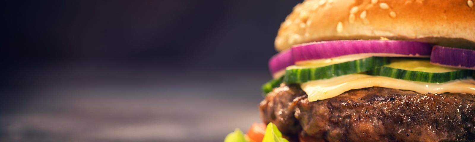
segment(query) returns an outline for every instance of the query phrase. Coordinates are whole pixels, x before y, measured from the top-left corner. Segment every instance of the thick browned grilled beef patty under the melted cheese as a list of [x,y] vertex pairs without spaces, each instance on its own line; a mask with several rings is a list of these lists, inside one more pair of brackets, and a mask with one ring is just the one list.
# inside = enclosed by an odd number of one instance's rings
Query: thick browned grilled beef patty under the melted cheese
[[309,102],[293,84],[274,89],[260,110],[294,142],[475,142],[473,94],[372,87]]

